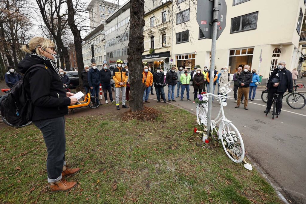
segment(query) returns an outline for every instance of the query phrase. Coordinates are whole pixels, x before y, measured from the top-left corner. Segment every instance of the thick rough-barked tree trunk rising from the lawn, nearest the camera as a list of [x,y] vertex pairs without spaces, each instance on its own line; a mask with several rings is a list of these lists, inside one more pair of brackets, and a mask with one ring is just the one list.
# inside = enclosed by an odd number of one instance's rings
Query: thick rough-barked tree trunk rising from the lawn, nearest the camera
[[145,85],[142,83],[142,53],[144,52],[144,0],[131,0],[128,61],[130,70],[131,111],[143,110],[142,98]]

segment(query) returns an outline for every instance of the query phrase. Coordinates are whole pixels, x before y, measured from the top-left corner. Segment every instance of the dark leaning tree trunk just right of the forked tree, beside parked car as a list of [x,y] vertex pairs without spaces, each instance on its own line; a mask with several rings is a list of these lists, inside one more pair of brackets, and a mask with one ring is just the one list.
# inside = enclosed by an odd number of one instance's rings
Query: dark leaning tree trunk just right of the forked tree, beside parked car
[[[75,10],[73,7],[72,0],[67,0],[67,7],[68,7],[68,24],[70,30],[73,34],[74,38],[74,46],[75,46],[75,54],[76,54],[76,63],[78,68],[78,74],[81,76],[81,72],[84,70],[84,62],[83,62],[83,51],[82,51],[82,42],[83,39],[81,38],[81,32],[75,24],[74,15]],[[83,81],[81,77],[79,77],[79,86],[76,87],[76,90],[83,90]]]

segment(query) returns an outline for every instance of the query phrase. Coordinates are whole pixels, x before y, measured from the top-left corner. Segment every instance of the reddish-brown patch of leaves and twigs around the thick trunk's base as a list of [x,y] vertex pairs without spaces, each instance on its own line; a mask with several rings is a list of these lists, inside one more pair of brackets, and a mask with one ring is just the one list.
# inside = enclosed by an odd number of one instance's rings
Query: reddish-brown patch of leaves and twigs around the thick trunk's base
[[160,111],[144,106],[144,110],[131,112],[131,110],[125,112],[122,116],[124,121],[131,121],[131,120],[139,120],[139,121],[155,121],[156,118],[161,114]]

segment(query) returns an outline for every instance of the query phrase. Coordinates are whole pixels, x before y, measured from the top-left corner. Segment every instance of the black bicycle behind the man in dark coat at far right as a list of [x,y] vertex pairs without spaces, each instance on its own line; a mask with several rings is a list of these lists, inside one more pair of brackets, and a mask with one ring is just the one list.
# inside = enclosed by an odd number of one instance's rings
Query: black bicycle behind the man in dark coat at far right
[[[297,91],[297,88],[305,88],[305,84],[298,84],[296,86],[293,86],[293,92],[292,93],[285,93],[283,97],[287,96],[286,102],[288,106],[290,106],[293,109],[301,109],[304,108],[306,105],[306,99],[304,97],[304,94],[300,94]],[[268,91],[265,90],[261,93],[261,100],[263,102],[267,103],[268,101]]]

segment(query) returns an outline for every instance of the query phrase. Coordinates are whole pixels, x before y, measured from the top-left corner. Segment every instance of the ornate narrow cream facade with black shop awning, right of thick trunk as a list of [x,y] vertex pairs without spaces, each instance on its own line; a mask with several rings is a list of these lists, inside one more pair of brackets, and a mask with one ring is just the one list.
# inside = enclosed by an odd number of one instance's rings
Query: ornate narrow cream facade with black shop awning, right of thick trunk
[[151,69],[168,71],[172,52],[172,0],[145,1],[144,53],[142,61]]

